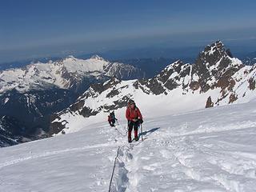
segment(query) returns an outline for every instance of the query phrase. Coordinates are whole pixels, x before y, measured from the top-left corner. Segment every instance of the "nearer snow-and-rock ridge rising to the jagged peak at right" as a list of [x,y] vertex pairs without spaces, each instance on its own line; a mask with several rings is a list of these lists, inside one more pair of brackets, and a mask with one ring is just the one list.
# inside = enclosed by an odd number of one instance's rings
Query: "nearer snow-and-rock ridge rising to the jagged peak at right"
[[50,133],[79,130],[90,119],[106,118],[111,110],[121,115],[130,98],[142,109],[150,109],[144,112],[146,117],[248,102],[256,97],[255,80],[256,65],[243,65],[222,42],[214,42],[206,46],[194,64],[177,61],[154,78],[111,78],[90,86],[77,102],[52,116]]

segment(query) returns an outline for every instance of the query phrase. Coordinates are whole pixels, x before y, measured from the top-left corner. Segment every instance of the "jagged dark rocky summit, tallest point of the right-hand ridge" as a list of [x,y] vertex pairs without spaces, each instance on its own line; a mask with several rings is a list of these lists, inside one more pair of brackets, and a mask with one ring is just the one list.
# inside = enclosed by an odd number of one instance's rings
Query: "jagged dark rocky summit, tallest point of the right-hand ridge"
[[192,84],[198,84],[196,87],[201,87],[201,91],[206,92],[210,87],[216,86],[207,82],[218,82],[223,77],[229,82],[228,79],[242,66],[242,62],[232,58],[230,50],[226,50],[221,41],[214,42],[198,55],[192,70],[192,75],[198,79]]

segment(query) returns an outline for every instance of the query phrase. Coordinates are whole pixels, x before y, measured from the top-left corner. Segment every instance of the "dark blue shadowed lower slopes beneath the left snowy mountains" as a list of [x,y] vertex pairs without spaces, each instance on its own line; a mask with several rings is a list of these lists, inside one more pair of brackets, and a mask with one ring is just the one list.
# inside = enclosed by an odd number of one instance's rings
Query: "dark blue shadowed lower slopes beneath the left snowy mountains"
[[[15,126],[3,125],[7,132],[26,135],[28,139],[41,138],[37,134],[48,132],[50,126],[50,113],[61,110],[70,105],[72,93],[69,90],[31,90],[21,94],[11,90],[0,96],[0,116],[15,119]],[[62,97],[61,97],[62,96]],[[74,96],[73,96],[74,97]],[[18,125],[20,123],[20,125]],[[11,129],[17,129],[15,132]],[[19,131],[22,129],[22,133]],[[18,140],[22,142],[22,140]]]

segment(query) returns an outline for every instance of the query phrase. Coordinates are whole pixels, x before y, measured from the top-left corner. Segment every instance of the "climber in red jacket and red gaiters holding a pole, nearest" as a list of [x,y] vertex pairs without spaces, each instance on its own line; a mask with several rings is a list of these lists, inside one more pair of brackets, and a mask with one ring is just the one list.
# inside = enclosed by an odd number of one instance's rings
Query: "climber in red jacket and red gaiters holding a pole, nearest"
[[131,131],[134,129],[134,139],[138,141],[138,126],[143,122],[142,114],[135,105],[134,100],[128,102],[126,109],[126,118],[128,120],[128,142],[131,142]]

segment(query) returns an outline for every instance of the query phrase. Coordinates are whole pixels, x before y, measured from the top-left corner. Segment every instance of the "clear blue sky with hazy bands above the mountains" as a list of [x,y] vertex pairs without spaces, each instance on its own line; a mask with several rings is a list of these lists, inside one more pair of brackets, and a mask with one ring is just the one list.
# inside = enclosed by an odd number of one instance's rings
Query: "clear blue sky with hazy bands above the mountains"
[[0,63],[217,39],[250,50],[255,10],[254,0],[2,0]]

